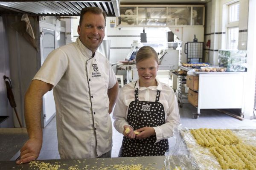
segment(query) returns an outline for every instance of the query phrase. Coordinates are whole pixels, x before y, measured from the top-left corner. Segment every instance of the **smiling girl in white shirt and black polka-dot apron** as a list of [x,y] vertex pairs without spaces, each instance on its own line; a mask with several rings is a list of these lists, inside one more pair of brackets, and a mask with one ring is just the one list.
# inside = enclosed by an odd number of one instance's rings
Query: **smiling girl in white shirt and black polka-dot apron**
[[124,135],[120,157],[164,155],[173,127],[180,124],[174,91],[156,79],[158,64],[154,48],[140,48],[136,55],[139,79],[119,92],[113,119],[116,130]]

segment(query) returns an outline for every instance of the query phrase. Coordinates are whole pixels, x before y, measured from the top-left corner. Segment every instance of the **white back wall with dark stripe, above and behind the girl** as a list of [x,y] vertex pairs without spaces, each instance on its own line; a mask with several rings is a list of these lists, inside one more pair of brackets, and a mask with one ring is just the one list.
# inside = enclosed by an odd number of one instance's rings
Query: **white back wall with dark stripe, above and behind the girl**
[[[140,43],[140,33],[143,27],[110,27],[110,21],[116,22],[116,17],[108,17],[105,33],[105,39],[111,40],[110,62],[115,63],[124,61],[127,58],[134,40]],[[151,45],[157,52],[167,47],[166,28],[144,28],[147,33],[147,42],[140,43],[138,47],[143,45]],[[158,47],[157,47],[158,46]],[[113,67],[116,71],[115,67]],[[116,74],[122,74],[126,77],[126,71],[116,71]],[[134,73],[134,75],[137,73]]]

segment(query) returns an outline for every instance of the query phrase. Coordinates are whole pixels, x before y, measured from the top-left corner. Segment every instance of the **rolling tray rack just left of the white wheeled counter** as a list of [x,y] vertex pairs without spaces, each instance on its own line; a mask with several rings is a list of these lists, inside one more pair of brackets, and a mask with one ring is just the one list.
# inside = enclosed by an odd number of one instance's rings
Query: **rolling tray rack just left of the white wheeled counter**
[[183,99],[187,99],[187,94],[185,92],[185,89],[183,89],[183,85],[186,84],[186,71],[178,71],[178,72],[172,72],[173,74],[178,76],[178,103],[180,108],[183,107]]

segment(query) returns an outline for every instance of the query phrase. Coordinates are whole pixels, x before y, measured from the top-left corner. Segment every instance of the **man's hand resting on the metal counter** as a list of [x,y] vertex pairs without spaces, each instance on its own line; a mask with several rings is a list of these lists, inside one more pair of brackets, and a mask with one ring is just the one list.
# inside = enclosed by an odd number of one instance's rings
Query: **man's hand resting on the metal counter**
[[42,147],[42,140],[29,139],[20,149],[20,160],[16,164],[23,164],[38,158]]

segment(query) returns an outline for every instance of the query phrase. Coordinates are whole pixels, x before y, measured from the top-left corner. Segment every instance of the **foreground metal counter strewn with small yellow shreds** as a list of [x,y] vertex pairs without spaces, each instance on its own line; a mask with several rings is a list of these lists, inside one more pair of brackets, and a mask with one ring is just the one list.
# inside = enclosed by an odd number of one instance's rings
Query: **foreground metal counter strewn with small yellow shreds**
[[[117,165],[138,165],[143,169],[163,170],[165,156],[126,157],[126,158],[95,158],[95,159],[53,159],[38,160],[38,164],[49,163],[58,166],[58,170],[116,170]],[[116,167],[115,167],[116,166]],[[76,169],[75,169],[76,168]],[[17,165],[15,161],[0,161],[1,170],[39,170],[38,166],[30,163]],[[48,167],[49,169],[49,167]]]

